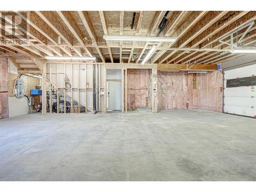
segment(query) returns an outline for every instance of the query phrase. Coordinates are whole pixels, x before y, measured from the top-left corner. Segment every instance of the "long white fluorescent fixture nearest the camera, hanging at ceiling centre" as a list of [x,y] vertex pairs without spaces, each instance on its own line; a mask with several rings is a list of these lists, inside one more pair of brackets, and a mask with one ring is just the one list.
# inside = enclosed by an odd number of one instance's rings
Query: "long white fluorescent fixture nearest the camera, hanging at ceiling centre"
[[142,37],[142,36],[121,36],[121,35],[103,35],[105,40],[129,40],[129,41],[165,41],[174,42],[176,38],[172,37]]

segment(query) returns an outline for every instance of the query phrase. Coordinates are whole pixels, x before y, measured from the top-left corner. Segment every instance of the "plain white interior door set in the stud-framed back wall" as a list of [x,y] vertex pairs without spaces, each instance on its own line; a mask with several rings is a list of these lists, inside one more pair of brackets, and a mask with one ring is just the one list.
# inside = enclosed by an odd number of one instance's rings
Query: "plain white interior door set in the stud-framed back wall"
[[121,110],[121,82],[108,82],[108,110]]

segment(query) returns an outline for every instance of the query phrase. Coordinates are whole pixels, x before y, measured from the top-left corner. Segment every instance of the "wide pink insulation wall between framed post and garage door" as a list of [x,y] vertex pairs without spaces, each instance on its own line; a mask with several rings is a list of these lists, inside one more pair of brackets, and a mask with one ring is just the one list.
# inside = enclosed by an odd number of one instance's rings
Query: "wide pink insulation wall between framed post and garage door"
[[197,74],[158,71],[158,109],[186,109],[188,103],[188,109],[221,112],[220,87],[222,73],[218,71]]

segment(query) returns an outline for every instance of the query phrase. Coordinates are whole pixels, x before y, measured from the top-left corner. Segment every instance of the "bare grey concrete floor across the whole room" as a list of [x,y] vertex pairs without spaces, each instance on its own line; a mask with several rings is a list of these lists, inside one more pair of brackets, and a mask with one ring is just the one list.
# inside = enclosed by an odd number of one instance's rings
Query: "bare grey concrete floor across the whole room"
[[2,181],[255,181],[256,121],[204,110],[0,120]]

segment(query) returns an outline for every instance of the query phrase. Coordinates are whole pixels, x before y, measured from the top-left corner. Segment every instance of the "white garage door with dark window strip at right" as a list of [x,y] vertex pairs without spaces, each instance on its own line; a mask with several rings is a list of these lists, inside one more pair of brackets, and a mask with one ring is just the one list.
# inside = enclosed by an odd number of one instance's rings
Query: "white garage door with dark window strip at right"
[[225,71],[224,113],[256,117],[256,65]]

